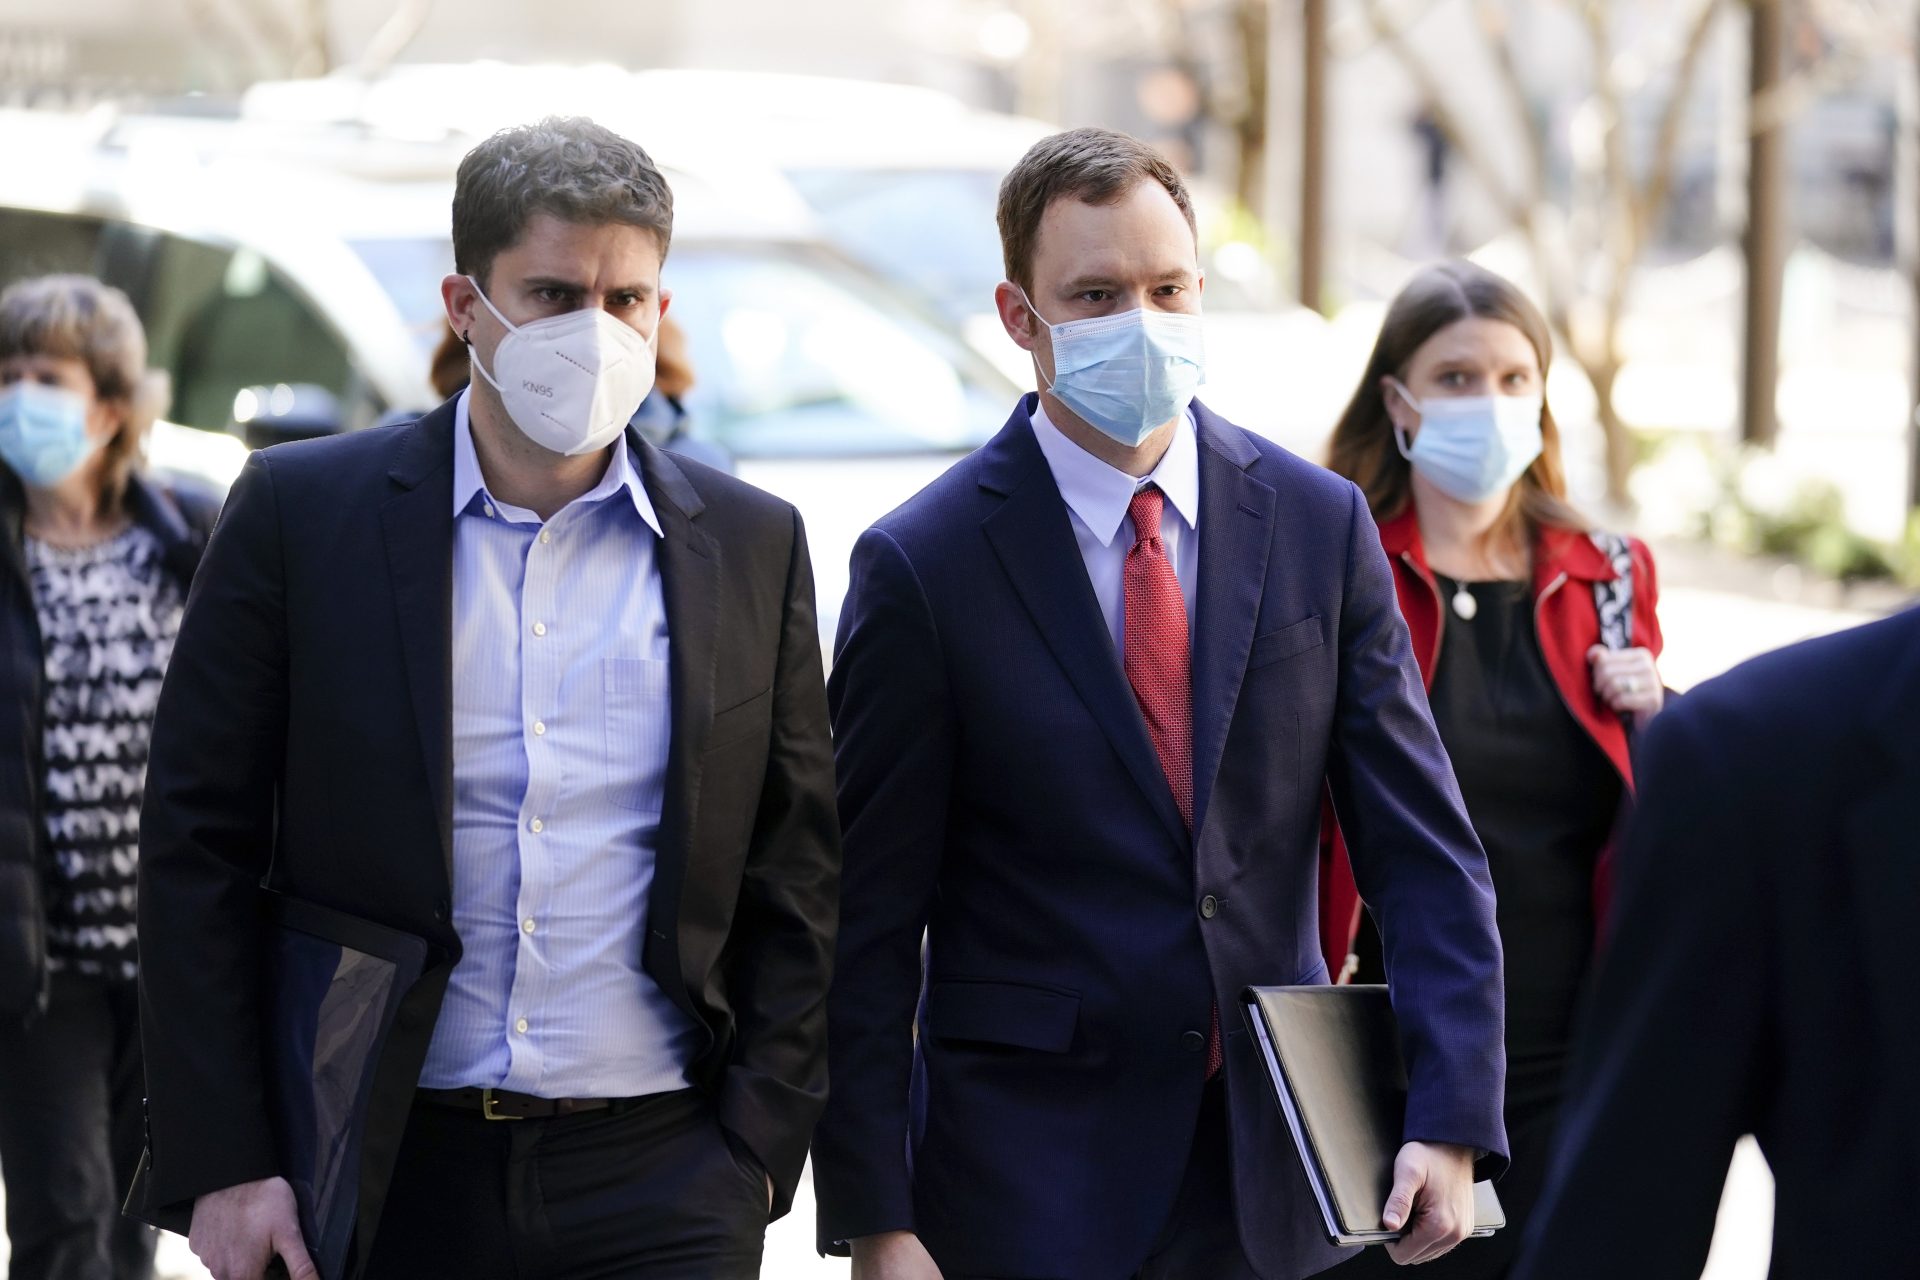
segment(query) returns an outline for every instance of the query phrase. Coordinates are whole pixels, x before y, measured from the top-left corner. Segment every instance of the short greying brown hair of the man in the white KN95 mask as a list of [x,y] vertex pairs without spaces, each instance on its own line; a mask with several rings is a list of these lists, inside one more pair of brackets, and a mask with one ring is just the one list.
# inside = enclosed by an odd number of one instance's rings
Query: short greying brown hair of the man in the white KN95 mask
[[453,182],[453,269],[486,284],[536,213],[651,230],[662,259],[674,238],[674,192],[653,157],[584,117],[503,129],[467,152]]

